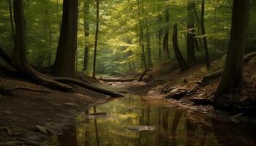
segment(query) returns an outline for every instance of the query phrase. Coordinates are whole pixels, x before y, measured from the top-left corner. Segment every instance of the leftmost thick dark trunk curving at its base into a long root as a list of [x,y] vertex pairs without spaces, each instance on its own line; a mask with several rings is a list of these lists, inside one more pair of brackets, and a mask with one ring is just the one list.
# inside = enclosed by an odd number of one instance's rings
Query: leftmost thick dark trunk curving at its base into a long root
[[[42,84],[50,85],[54,88],[61,88],[67,91],[72,90],[69,85],[64,85],[60,82],[47,77],[45,74],[41,74],[29,66],[26,58],[26,45],[25,45],[25,33],[24,33],[24,15],[23,15],[23,1],[13,1],[13,12],[15,20],[15,47],[12,53],[12,59],[8,57],[7,61],[15,67],[19,72],[25,74],[27,77],[40,82]],[[7,56],[6,56],[7,57]],[[10,62],[12,61],[12,62]]]

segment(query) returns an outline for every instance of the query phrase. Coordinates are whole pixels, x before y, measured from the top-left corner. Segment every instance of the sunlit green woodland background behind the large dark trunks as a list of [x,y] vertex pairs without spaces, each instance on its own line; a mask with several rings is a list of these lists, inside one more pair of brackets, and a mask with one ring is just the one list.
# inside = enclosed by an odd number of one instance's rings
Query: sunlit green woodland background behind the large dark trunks
[[[78,2],[76,69],[91,74],[97,24],[97,1],[79,0]],[[206,61],[204,37],[207,39],[210,60],[222,58],[227,53],[230,40],[233,1],[204,1],[205,34],[202,34],[201,30],[201,2],[198,0],[190,3],[184,0],[99,1],[97,74],[143,72],[145,67],[169,61],[176,62],[172,42],[175,23],[178,25],[179,48],[184,58],[190,59],[189,64]],[[0,2],[0,45],[9,53],[12,52],[14,45],[10,4],[12,7],[12,1]],[[256,2],[250,1],[249,23],[246,26],[246,52],[255,50],[255,7]],[[59,42],[62,1],[25,0],[23,9],[26,54],[29,64],[37,69],[52,66]],[[194,26],[195,29],[193,29]],[[169,33],[167,38],[166,33]],[[191,35],[195,35],[195,43],[189,44],[188,39]],[[166,39],[169,48],[164,48]],[[191,57],[190,53],[190,58],[187,45],[192,45],[192,50],[195,50],[195,55],[192,53]],[[88,53],[85,53],[85,47],[89,48]],[[145,58],[142,47],[145,50]]]

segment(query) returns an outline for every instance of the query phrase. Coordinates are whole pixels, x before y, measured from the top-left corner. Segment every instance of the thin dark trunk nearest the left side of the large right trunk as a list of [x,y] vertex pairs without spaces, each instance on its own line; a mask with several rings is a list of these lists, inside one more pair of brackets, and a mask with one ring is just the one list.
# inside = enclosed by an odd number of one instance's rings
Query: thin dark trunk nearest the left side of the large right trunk
[[202,35],[203,35],[203,47],[205,48],[205,53],[206,53],[206,67],[207,69],[211,69],[210,55],[208,51],[208,42],[206,39],[206,28],[205,28],[205,0],[202,0],[201,28],[202,28]]

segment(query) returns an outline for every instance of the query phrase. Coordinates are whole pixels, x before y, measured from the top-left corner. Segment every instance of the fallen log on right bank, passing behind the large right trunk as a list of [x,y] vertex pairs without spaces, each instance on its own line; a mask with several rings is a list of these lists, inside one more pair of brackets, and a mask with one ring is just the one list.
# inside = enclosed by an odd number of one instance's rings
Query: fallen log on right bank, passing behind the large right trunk
[[[249,60],[251,60],[252,58],[254,58],[256,56],[256,52],[254,53],[249,53],[248,55],[244,56],[244,63],[248,62]],[[210,80],[214,80],[217,79],[218,77],[222,76],[224,69],[220,69],[217,72],[213,72],[211,74],[206,75],[205,77],[203,77],[203,79],[201,80],[201,82],[209,82]]]

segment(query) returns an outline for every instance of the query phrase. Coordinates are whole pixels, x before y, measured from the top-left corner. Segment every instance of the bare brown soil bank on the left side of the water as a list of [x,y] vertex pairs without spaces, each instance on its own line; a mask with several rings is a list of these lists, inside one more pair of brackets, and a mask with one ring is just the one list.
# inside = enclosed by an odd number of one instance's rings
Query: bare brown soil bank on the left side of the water
[[65,127],[75,123],[78,112],[109,98],[75,85],[75,93],[52,90],[22,80],[13,72],[0,72],[0,87],[50,91],[41,93],[20,90],[8,95],[0,93],[0,145],[45,145],[50,134],[40,132],[36,126],[61,134]]

